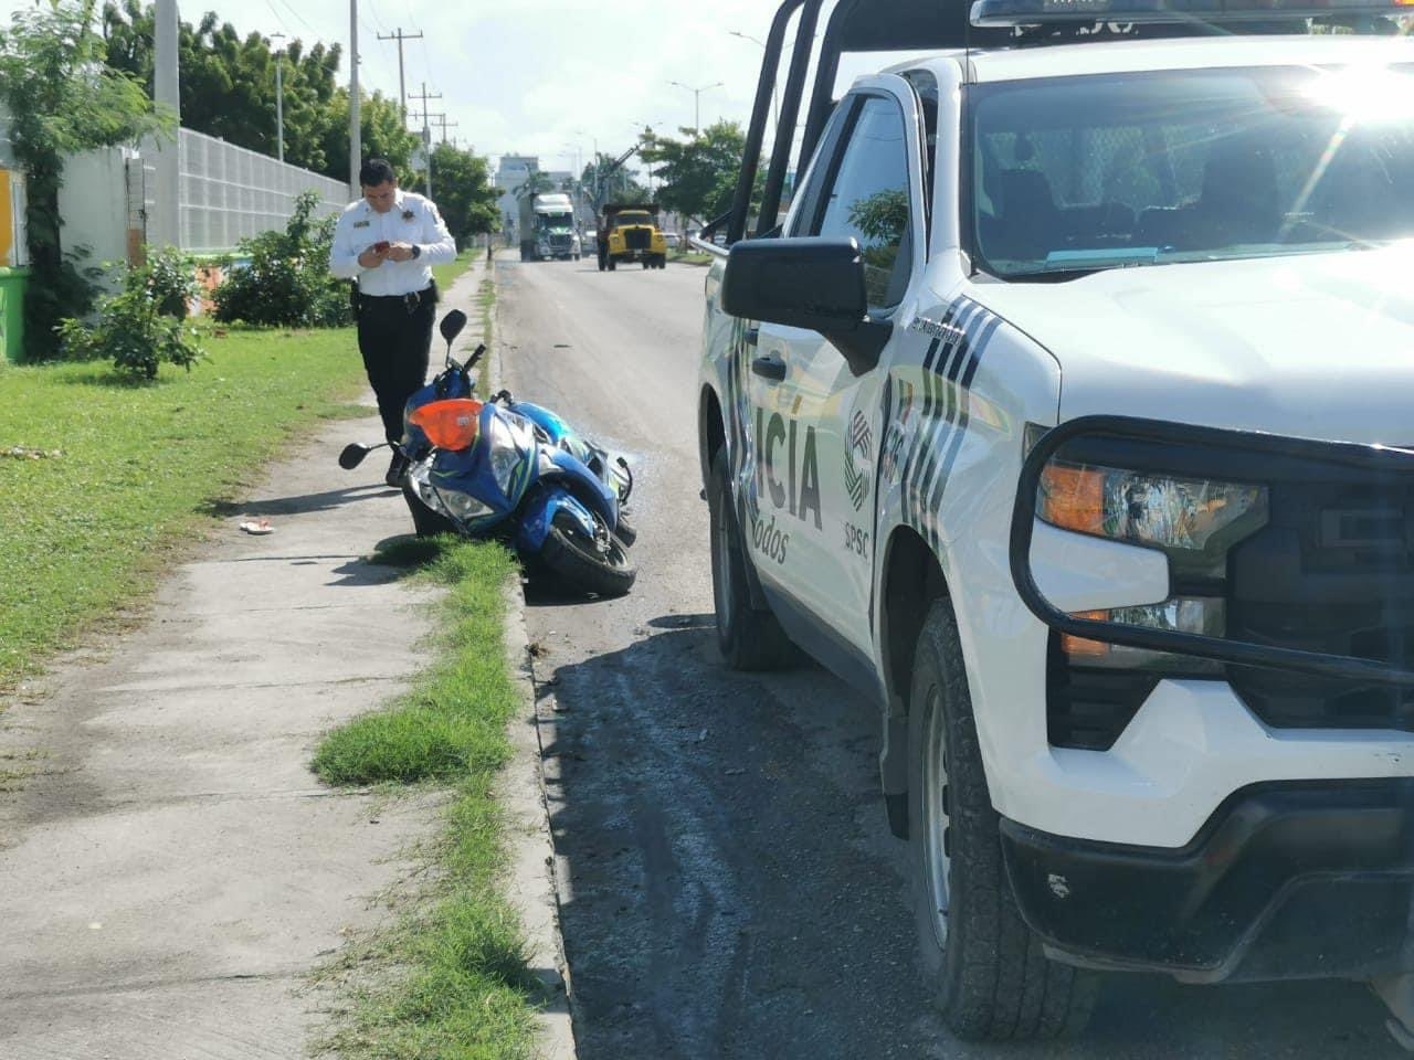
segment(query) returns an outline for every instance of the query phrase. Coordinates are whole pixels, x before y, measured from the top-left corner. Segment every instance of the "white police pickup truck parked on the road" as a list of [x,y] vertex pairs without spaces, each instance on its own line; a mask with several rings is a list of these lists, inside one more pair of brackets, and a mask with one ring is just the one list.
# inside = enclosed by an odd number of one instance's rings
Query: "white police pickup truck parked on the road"
[[839,0],[802,114],[786,0],[696,240],[721,653],[880,701],[963,1036],[1094,970],[1414,1025],[1414,42],[1244,3]]

